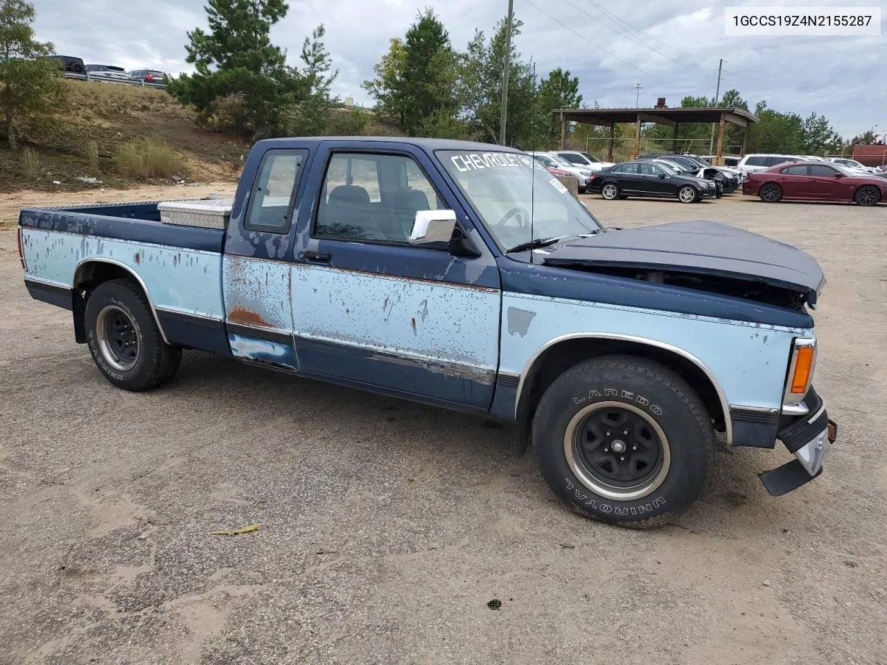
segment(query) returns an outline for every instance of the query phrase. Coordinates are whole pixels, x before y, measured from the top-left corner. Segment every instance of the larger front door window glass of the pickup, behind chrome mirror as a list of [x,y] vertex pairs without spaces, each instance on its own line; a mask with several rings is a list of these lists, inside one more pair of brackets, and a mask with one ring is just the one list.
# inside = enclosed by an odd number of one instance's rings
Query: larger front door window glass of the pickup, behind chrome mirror
[[405,245],[416,213],[439,207],[437,192],[412,157],[334,153],[314,232],[323,238]]

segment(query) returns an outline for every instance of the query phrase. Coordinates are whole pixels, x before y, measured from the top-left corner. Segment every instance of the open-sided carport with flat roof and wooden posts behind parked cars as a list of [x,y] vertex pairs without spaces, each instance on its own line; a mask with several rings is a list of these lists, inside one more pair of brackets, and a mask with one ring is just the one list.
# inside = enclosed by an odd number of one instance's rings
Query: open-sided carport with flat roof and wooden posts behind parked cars
[[668,125],[674,129],[671,135],[673,150],[677,150],[678,129],[687,122],[702,122],[718,125],[718,143],[715,151],[714,163],[723,164],[722,151],[724,148],[724,124],[729,122],[742,127],[742,151],[745,154],[746,139],[749,134],[749,126],[757,122],[757,115],[749,113],[745,109],[730,107],[718,108],[668,108],[656,106],[654,108],[561,108],[553,113],[561,114],[561,150],[567,149],[567,123],[582,122],[587,125],[609,128],[609,141],[607,144],[606,160],[613,160],[613,132],[616,122],[634,123],[634,151],[632,157],[640,153],[640,126],[644,122],[655,122],[660,125]]

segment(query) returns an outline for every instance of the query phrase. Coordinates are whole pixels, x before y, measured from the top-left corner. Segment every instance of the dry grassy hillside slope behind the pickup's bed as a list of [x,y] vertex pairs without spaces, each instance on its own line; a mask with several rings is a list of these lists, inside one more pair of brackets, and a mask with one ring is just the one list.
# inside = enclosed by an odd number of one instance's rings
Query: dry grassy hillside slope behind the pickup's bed
[[[166,91],[100,82],[66,83],[67,109],[59,110],[43,137],[23,142],[22,147],[31,152],[11,153],[5,145],[0,147],[0,192],[122,188],[158,182],[158,171],[139,163],[140,155],[159,162],[161,172],[168,176],[189,182],[238,178],[241,156],[249,152],[250,142],[200,126],[195,113]],[[367,133],[396,131],[372,123]],[[78,177],[97,178],[102,184],[88,184]]]

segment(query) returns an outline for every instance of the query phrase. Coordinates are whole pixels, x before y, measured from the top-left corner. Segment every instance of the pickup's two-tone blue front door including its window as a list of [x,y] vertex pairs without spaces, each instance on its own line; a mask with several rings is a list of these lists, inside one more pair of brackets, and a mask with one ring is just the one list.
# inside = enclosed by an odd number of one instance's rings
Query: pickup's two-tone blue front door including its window
[[488,409],[498,369],[501,288],[490,250],[408,242],[418,210],[473,228],[436,164],[403,144],[325,144],[300,220],[291,297],[303,372],[426,401]]

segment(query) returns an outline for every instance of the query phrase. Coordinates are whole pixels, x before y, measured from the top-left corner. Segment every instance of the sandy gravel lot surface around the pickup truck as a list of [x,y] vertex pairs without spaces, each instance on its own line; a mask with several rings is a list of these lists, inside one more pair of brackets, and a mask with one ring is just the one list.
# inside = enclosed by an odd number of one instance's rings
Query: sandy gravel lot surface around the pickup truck
[[887,662],[887,207],[589,202],[822,263],[819,479],[769,497],[785,450],[721,450],[638,532],[566,510],[483,419],[193,352],[128,394],[0,232],[0,663]]

